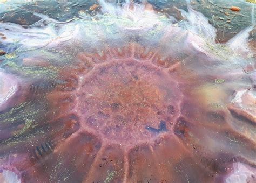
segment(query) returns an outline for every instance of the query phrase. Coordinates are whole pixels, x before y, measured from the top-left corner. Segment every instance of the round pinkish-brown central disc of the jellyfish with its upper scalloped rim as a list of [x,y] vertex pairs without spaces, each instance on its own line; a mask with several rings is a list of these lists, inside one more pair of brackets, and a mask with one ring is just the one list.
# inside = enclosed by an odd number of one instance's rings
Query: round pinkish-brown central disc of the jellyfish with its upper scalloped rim
[[172,131],[181,102],[172,65],[142,50],[130,45],[80,54],[91,67],[80,76],[76,89],[82,129],[124,145]]

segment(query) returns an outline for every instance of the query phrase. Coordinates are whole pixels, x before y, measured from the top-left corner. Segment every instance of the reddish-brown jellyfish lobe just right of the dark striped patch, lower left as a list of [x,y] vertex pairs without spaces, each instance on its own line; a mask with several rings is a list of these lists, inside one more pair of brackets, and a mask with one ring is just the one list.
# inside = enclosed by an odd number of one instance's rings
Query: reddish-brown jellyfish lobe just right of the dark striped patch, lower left
[[93,157],[99,152],[100,146],[99,139],[89,133],[79,133],[64,144],[58,144],[42,163],[25,170],[23,181],[39,179],[45,182],[64,180],[82,182],[87,177],[94,161]]

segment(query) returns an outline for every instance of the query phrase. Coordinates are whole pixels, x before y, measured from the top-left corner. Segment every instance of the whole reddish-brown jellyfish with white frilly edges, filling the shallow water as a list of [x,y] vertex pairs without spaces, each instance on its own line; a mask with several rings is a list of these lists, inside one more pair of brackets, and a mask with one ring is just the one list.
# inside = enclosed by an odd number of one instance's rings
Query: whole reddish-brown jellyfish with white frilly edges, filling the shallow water
[[99,7],[0,23],[0,181],[255,182],[255,23],[220,44],[190,4]]

